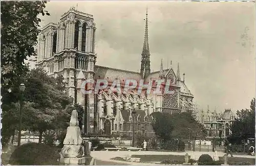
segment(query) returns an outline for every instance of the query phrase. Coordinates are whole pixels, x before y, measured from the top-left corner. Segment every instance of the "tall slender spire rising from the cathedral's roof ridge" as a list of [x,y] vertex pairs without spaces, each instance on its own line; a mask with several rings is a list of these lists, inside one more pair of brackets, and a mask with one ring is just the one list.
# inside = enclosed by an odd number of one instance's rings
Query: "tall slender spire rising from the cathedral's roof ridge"
[[144,43],[141,53],[141,69],[140,74],[145,79],[150,74],[150,46],[148,44],[148,19],[147,19],[147,8],[146,8],[146,18],[145,23],[145,34]]

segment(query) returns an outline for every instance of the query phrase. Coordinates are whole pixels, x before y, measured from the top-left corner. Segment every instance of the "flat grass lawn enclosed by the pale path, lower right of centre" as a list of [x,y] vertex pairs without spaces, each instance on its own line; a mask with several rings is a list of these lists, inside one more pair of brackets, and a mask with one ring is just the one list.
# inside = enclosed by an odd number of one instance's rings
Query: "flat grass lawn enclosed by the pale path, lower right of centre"
[[140,162],[161,162],[165,159],[184,160],[185,162],[184,155],[132,155],[132,157],[140,158]]

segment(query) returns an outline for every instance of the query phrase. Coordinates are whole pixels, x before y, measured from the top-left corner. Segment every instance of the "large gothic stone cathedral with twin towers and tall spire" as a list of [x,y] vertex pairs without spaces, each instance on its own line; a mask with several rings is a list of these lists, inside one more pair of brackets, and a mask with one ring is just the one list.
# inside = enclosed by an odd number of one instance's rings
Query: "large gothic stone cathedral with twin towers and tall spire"
[[[107,135],[131,135],[132,124],[136,123],[136,131],[152,136],[153,112],[190,112],[196,117],[197,106],[193,102],[194,96],[185,85],[185,74],[181,79],[179,64],[176,70],[172,62],[169,69],[163,69],[161,61],[160,70],[151,71],[147,12],[140,72],[96,65],[96,59],[102,55],[96,53],[95,34],[96,24],[93,15],[71,7],[60,17],[57,24],[48,23],[41,29],[37,44],[35,66],[43,68],[51,76],[63,75],[67,82],[67,94],[74,99],[74,103],[84,107],[85,133],[100,131]],[[129,93],[118,94],[111,91],[108,86],[97,94],[84,94],[84,87],[81,85],[86,79],[105,79],[110,85],[118,79],[121,88],[124,88],[127,79],[144,79],[144,84],[156,79],[168,79],[172,81],[174,93],[145,95],[137,93],[138,89],[133,89]],[[154,84],[152,91],[156,91]]]

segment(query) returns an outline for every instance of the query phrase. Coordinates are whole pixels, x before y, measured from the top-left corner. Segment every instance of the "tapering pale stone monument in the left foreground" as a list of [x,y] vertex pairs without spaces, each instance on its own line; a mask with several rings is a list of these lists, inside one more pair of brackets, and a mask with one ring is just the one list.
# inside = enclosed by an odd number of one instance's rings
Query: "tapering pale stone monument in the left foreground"
[[64,164],[94,165],[95,159],[90,155],[89,144],[83,143],[77,117],[77,111],[73,110],[59,161]]

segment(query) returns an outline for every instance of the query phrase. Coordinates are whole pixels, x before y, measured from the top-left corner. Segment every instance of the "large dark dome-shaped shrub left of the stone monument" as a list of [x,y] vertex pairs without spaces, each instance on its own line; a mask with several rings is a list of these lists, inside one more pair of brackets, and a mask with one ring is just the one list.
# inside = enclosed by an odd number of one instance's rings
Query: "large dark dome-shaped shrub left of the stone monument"
[[28,143],[18,147],[10,157],[11,165],[56,165],[59,150],[46,144]]

